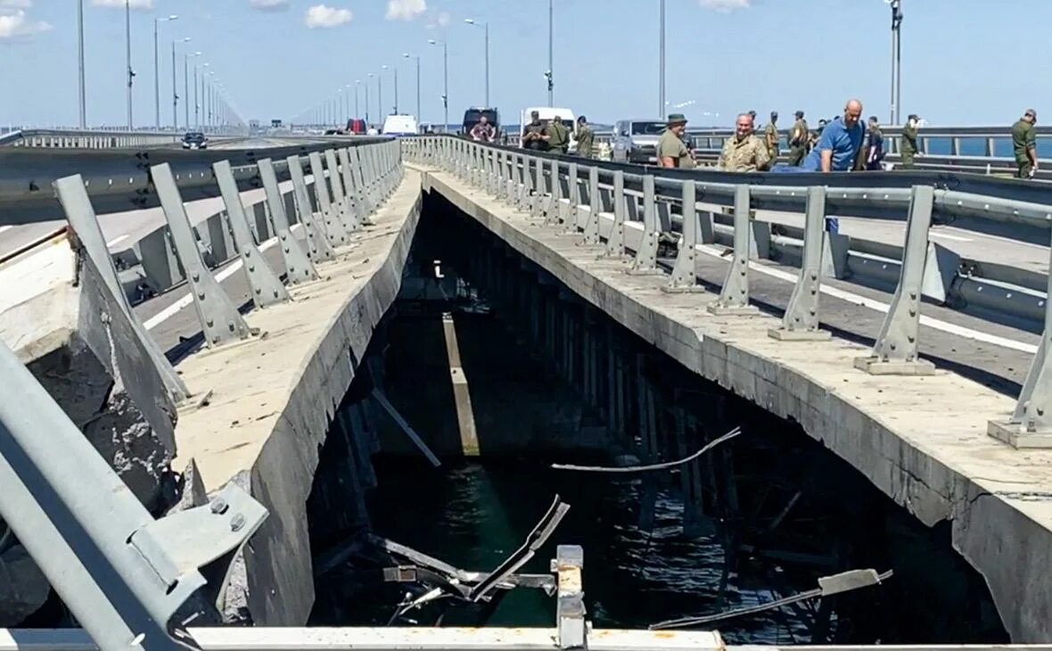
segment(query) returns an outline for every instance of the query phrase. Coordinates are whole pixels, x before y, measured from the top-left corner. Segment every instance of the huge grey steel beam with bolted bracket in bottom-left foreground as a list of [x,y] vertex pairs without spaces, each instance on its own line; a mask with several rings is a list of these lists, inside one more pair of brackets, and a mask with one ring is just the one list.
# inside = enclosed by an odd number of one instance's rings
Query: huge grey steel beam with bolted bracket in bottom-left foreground
[[229,561],[266,509],[231,483],[154,521],[0,343],[0,517],[99,648],[186,649],[187,623],[219,624]]

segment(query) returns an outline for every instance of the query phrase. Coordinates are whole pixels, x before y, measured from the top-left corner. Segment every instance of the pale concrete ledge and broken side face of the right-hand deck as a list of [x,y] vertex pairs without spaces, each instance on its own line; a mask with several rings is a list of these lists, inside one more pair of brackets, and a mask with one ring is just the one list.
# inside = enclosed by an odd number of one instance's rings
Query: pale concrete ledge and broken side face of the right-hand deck
[[[987,421],[1011,411],[1012,399],[947,370],[868,375],[852,367],[869,353],[865,345],[843,338],[775,341],[767,334],[780,324],[773,317],[709,314],[705,305],[715,294],[665,293],[665,279],[628,276],[624,262],[596,257],[601,247],[580,245],[580,237],[559,235],[561,227],[546,227],[448,174],[428,170],[425,188],[694,372],[801,423],[920,521],[951,521],[954,546],[986,576],[1013,639],[1052,635],[1046,616],[1052,589],[1038,578],[1052,566],[1052,452],[1017,451],[986,434]],[[699,258],[703,278],[722,282],[727,263]],[[788,283],[752,279],[757,298],[788,299]],[[871,335],[879,325],[877,310],[823,300],[824,314],[848,332]],[[926,330],[922,341],[943,338],[952,348],[951,334]],[[1004,363],[993,357],[987,365]]]

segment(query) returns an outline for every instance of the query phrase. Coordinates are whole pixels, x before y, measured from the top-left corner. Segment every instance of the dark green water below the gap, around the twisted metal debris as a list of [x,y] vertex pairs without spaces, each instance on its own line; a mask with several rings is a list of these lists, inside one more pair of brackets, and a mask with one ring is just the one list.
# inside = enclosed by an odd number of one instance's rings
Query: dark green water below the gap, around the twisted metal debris
[[[452,462],[442,469],[406,459],[378,461],[379,488],[370,495],[375,530],[468,570],[494,568],[522,544],[559,493],[571,509],[523,572],[548,572],[558,544],[582,545],[585,597],[596,628],[646,628],[774,598],[766,575],[739,568],[719,603],[722,546],[710,537],[685,538],[681,501],[667,492],[659,493],[653,528],[641,530],[639,480],[553,471],[537,460]],[[802,583],[798,589],[813,586]],[[489,624],[553,626],[554,598],[517,589]],[[780,611],[723,624],[720,630],[739,643],[810,640],[804,617]]]

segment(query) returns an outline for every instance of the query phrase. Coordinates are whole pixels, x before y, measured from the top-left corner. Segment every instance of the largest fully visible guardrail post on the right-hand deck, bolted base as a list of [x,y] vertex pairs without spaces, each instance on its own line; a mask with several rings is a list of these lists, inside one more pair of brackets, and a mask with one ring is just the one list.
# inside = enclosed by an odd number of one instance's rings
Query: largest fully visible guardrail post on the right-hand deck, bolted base
[[931,226],[934,201],[935,190],[932,186],[913,186],[898,286],[895,287],[891,307],[881,326],[873,352],[868,358],[854,361],[855,368],[859,370],[874,375],[931,375],[935,372],[931,362],[917,357],[920,290],[928,258],[928,229]]

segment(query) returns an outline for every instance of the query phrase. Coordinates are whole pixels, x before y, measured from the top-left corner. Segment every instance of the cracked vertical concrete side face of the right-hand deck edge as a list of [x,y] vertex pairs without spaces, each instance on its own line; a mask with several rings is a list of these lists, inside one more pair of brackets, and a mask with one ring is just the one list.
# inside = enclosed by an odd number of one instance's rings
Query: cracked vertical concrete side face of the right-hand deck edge
[[[1052,639],[1052,617],[1048,616],[1052,588],[1041,578],[1052,570],[1052,531],[1048,528],[801,370],[719,335],[703,337],[648,308],[493,215],[461,187],[451,185],[444,172],[423,174],[428,191],[441,194],[511,248],[693,372],[800,423],[808,435],[850,463],[924,524],[952,521],[952,544],[985,577],[1012,640],[1031,644]],[[993,499],[976,501],[983,493]],[[1020,581],[1026,583],[1024,590]]]

